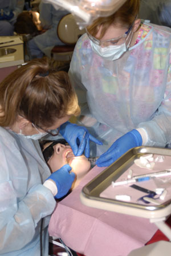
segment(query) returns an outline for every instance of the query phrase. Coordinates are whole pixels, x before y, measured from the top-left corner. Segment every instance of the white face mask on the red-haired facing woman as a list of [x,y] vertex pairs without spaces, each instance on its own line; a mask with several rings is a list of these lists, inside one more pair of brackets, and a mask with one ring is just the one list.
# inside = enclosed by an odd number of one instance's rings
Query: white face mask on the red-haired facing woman
[[92,50],[104,59],[108,59],[109,61],[115,61],[115,59],[119,59],[121,55],[123,55],[125,51],[128,50],[133,37],[132,31],[130,34],[130,36],[128,36],[128,39],[130,39],[127,45],[127,41],[125,41],[122,45],[110,45],[107,47],[101,47],[100,45],[96,45],[96,43],[90,41]]

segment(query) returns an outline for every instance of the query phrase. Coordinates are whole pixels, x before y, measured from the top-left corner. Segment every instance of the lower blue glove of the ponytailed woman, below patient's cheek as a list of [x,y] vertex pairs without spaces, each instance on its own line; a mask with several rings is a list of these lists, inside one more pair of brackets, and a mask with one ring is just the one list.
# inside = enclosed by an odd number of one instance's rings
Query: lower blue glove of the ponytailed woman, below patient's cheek
[[75,173],[70,173],[71,169],[70,165],[64,165],[47,178],[52,179],[56,183],[56,187],[58,189],[58,193],[55,195],[56,199],[63,197],[71,189],[72,183],[75,179]]

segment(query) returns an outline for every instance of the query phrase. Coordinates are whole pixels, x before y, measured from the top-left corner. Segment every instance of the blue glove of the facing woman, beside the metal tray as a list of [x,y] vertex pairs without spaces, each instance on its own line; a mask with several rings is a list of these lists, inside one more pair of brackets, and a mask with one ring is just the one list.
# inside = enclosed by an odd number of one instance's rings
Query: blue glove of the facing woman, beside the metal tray
[[109,166],[121,157],[125,152],[132,147],[138,147],[142,145],[141,134],[137,130],[129,131],[119,139],[117,139],[109,149],[102,154],[96,161],[96,165],[99,167]]

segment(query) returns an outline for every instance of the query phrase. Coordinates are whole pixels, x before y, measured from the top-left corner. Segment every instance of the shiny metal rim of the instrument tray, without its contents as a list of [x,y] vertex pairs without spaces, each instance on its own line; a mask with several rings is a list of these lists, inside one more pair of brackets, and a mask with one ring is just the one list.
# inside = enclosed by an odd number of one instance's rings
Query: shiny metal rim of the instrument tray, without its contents
[[170,157],[171,149],[141,146],[129,150],[83,187],[82,193],[80,194],[82,203],[90,207],[135,215],[143,218],[162,218],[170,215],[171,197],[164,203],[153,206],[100,197],[101,192],[111,185],[112,181],[116,181],[116,179],[128,170],[129,167],[133,165],[135,159],[140,158],[140,156],[145,154],[157,154]]

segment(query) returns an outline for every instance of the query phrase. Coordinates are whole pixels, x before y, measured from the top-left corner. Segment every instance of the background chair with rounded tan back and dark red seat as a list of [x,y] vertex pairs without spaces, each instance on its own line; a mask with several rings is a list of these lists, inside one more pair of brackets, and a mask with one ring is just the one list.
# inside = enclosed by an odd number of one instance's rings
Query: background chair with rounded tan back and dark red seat
[[51,58],[55,61],[70,63],[74,47],[79,37],[86,33],[86,30],[80,30],[72,14],[65,15],[57,27],[57,35],[64,45],[56,45],[51,50]]

